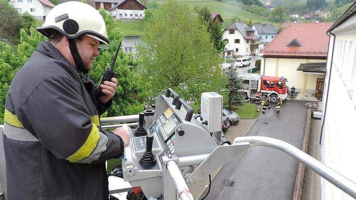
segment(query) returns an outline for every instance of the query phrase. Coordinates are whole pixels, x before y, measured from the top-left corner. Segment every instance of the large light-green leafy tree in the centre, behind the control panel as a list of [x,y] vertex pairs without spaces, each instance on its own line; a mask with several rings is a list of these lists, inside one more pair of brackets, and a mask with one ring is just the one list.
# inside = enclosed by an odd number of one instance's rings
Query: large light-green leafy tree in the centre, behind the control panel
[[138,45],[137,57],[153,94],[170,87],[185,100],[199,103],[202,92],[221,93],[225,88],[227,80],[217,67],[221,58],[207,25],[186,3],[163,3],[146,24],[142,40],[145,43]]

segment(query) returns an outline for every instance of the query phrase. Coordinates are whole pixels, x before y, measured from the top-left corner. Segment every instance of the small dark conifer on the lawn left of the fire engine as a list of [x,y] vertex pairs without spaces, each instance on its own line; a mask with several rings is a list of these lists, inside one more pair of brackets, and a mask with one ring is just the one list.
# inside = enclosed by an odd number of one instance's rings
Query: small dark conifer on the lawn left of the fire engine
[[231,108],[233,105],[242,104],[244,102],[244,95],[241,94],[240,91],[243,89],[242,81],[234,69],[229,70],[228,77],[229,83],[227,84],[226,88],[229,90],[229,95],[227,96],[227,102]]

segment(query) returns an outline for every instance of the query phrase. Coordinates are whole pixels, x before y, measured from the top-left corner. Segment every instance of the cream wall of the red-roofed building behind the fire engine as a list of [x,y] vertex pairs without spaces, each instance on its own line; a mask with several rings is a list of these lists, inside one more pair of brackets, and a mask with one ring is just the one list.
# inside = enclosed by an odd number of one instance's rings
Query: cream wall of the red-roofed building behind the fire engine
[[[266,64],[265,64],[266,60]],[[326,62],[319,59],[291,59],[291,58],[262,58],[261,74],[267,76],[279,77],[283,76],[288,79],[288,85],[294,85],[296,91],[300,92],[303,88],[304,72],[297,71],[300,63],[307,62]],[[307,74],[307,92],[313,93],[316,87],[316,79],[324,78],[324,74]]]

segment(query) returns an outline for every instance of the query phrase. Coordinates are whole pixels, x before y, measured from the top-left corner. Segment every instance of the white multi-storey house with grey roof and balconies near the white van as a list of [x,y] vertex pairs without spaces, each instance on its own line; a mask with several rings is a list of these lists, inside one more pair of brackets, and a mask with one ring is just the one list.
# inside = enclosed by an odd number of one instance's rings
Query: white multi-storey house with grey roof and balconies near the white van
[[253,53],[258,48],[256,41],[258,37],[253,35],[253,30],[239,20],[235,20],[230,26],[226,27],[223,34],[223,40],[226,41],[224,56],[243,56]]

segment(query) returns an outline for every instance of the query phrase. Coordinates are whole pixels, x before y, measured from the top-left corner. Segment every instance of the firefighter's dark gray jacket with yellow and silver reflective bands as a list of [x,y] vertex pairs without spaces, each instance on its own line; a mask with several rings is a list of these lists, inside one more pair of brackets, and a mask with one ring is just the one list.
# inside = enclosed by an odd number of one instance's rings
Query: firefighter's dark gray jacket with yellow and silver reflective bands
[[124,142],[98,128],[111,101],[97,103],[94,90],[44,41],[17,72],[4,116],[9,200],[108,199],[105,161],[120,157]]

